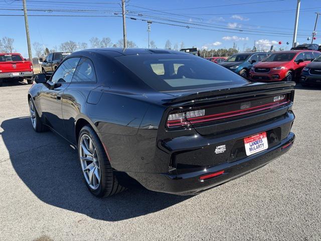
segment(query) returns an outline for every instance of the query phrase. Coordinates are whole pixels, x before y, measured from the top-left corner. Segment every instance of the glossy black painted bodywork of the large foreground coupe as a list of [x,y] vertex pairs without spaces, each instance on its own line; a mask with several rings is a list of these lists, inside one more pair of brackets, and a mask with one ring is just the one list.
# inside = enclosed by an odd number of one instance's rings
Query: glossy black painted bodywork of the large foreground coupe
[[[56,88],[47,83],[34,84],[29,90],[42,121],[75,147],[79,128],[88,123],[103,143],[115,173],[125,172],[151,190],[191,194],[254,170],[281,155],[282,146],[293,143],[293,82],[248,82],[221,89],[157,92],[115,61],[114,57],[123,54],[152,53],[144,49],[75,52],[67,58],[91,59],[96,83],[62,83]],[[168,130],[165,125],[168,113],[182,107],[282,93],[290,94],[289,105],[200,127],[214,130],[209,136],[200,134],[197,128]],[[237,141],[269,130],[281,130],[273,148],[240,160],[229,158],[228,151]],[[228,151],[218,158],[214,150],[222,143]],[[221,167],[229,171],[202,183],[198,181],[199,175]]]

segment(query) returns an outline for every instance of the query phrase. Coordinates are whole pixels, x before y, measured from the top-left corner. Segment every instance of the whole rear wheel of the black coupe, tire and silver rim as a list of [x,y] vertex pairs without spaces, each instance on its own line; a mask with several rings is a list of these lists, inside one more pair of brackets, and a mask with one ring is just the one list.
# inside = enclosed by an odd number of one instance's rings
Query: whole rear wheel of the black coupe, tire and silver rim
[[89,125],[79,133],[78,155],[85,183],[92,194],[103,197],[125,190],[118,183],[105,150]]

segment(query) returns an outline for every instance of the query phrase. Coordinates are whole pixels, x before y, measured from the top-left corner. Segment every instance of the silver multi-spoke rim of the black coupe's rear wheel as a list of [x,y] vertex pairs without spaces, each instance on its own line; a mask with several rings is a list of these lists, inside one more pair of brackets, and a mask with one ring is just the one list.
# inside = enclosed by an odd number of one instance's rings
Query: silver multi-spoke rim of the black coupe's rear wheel
[[96,190],[100,184],[100,166],[95,144],[86,134],[81,137],[79,143],[82,172],[87,184],[92,189]]

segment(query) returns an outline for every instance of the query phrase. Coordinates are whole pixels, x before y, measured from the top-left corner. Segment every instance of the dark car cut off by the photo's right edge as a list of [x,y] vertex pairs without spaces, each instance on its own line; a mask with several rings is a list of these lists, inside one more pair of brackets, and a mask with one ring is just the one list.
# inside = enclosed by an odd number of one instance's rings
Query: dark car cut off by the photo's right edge
[[308,68],[308,70],[302,70],[300,83],[321,85],[321,61],[312,61],[305,68]]

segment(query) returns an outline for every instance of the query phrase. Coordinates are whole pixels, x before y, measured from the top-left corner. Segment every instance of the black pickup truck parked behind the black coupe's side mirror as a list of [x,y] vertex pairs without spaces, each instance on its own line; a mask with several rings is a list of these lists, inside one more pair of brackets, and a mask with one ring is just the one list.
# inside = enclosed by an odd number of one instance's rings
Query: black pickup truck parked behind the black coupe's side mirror
[[67,52],[56,52],[49,54],[46,59],[40,58],[39,60],[42,62],[41,72],[46,75],[52,75],[60,62],[70,54]]

